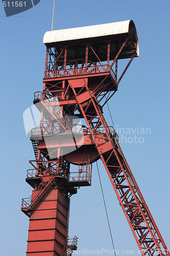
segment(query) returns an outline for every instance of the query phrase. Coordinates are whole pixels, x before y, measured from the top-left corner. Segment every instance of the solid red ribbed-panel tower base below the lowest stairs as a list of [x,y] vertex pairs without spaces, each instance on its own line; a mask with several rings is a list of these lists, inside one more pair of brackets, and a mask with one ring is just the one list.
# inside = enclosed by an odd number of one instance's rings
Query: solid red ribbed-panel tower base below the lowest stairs
[[62,255],[68,236],[69,199],[50,189],[31,211],[27,256]]

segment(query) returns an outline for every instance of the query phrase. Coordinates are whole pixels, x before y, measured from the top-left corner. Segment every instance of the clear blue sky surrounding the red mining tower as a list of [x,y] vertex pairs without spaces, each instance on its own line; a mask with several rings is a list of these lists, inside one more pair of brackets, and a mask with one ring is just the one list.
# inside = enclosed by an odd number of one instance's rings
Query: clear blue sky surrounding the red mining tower
[[[135,58],[109,105],[115,126],[151,129],[143,143],[120,143],[167,247],[169,241],[169,0],[56,0],[54,29],[133,19],[139,38]],[[21,198],[31,195],[25,182],[34,159],[22,113],[42,90],[45,63],[43,35],[51,30],[53,1],[6,17],[0,3],[1,48],[1,246],[3,256],[26,255],[29,218],[20,211]],[[121,60],[119,61],[121,62]],[[104,115],[111,119],[107,107]],[[136,136],[137,135],[135,134]],[[120,134],[119,134],[120,136]],[[134,135],[124,135],[127,139]],[[131,141],[131,140],[130,140]],[[103,164],[100,174],[115,249],[138,247]],[[69,236],[78,249],[112,250],[96,164],[92,186],[71,197]]]

